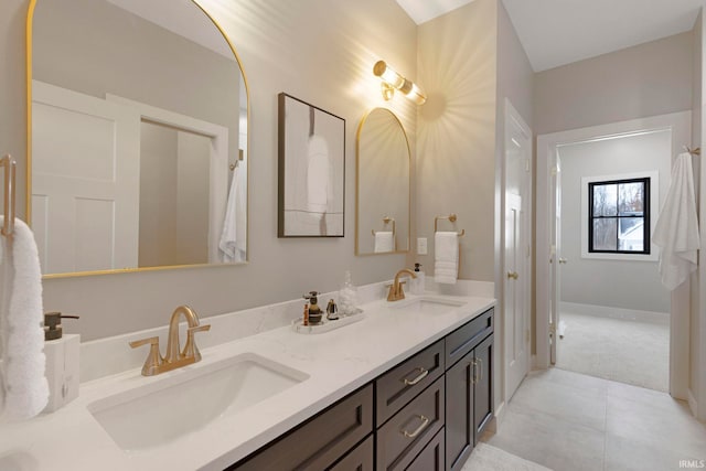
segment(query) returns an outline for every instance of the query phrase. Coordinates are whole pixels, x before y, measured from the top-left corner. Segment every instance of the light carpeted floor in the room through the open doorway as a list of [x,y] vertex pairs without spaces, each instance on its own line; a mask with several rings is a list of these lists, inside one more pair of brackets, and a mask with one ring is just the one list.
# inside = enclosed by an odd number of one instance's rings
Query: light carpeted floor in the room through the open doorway
[[668,325],[563,312],[561,370],[649,389],[668,389]]

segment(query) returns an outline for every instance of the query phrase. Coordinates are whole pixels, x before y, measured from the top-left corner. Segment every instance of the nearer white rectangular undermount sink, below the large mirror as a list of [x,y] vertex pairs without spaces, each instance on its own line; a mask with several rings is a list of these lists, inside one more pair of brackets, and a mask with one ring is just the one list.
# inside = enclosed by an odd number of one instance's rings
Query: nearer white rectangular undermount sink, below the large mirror
[[88,406],[115,442],[135,453],[169,443],[303,382],[308,374],[254,353],[170,372]]

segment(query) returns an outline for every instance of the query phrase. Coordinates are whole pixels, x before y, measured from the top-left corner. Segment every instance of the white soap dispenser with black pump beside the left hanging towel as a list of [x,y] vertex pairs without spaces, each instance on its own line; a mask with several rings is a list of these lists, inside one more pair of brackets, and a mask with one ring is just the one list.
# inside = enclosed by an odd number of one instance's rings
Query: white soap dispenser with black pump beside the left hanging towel
[[78,397],[81,335],[64,335],[62,319],[78,319],[78,315],[44,314],[45,376],[49,383],[45,413],[53,413]]

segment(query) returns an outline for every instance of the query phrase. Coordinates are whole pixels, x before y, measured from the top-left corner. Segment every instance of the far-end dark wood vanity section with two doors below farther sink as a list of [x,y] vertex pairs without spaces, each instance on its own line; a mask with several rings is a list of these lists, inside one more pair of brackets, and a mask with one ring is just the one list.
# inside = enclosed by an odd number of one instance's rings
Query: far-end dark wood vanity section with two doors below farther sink
[[451,332],[446,342],[446,469],[456,471],[493,416],[493,310]]

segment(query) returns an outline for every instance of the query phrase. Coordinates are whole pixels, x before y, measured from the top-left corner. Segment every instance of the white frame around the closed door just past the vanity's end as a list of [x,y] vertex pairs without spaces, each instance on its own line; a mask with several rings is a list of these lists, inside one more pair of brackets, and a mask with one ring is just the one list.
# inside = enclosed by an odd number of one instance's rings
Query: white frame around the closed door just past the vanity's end
[[[510,129],[510,126],[513,125],[517,126],[521,131],[526,136],[527,139],[527,153],[525,154],[526,159],[527,159],[527,170],[524,173],[524,191],[526,192],[526,194],[522,194],[520,195],[520,197],[523,200],[523,206],[524,206],[524,211],[525,214],[523,216],[523,227],[521,228],[521,231],[524,232],[524,245],[530,248],[530,256],[526,257],[525,264],[524,264],[524,269],[523,272],[520,274],[520,282],[515,281],[516,285],[523,283],[523,287],[521,289],[521,292],[523,293],[523,302],[525,303],[525,311],[524,311],[524,324],[525,324],[525,329],[528,330],[531,332],[531,321],[532,321],[532,299],[531,299],[531,292],[532,292],[532,250],[531,247],[533,245],[533,237],[532,237],[532,200],[533,200],[533,189],[532,189],[532,173],[533,173],[533,169],[532,169],[532,129],[530,128],[530,126],[525,122],[525,120],[522,118],[522,115],[520,115],[520,113],[512,106],[512,103],[510,101],[510,99],[505,98],[505,114],[504,114],[504,129],[503,129],[503,152],[502,152],[502,165],[503,165],[503,172],[502,172],[502,212],[501,214],[502,216],[502,245],[501,245],[501,253],[502,253],[502,263],[501,263],[501,282],[502,282],[502,299],[503,299],[503,355],[502,355],[502,361],[503,361],[503,371],[504,371],[504,375],[503,375],[503,397],[505,400],[509,400],[510,397],[512,396],[512,394],[514,394],[513,392],[507,390],[510,387],[510,381],[509,381],[509,375],[510,375],[510,368],[507,367],[507,349],[510,347],[510,329],[505,323],[505,313],[506,313],[506,309],[507,307],[505,306],[505,293],[506,293],[506,283],[507,283],[507,278],[505,276],[505,263],[506,263],[506,257],[505,257],[505,212],[507,211],[507,200],[506,200],[506,183],[507,183],[507,149],[505,147],[505,142],[507,140],[507,130]],[[517,288],[516,288],[517,289]],[[527,364],[526,364],[526,371],[527,373],[532,370],[532,344],[528,341],[530,336],[525,336],[525,349],[526,349],[526,355],[527,355]],[[522,382],[521,382],[522,383]],[[512,394],[511,394],[512,393]]]

